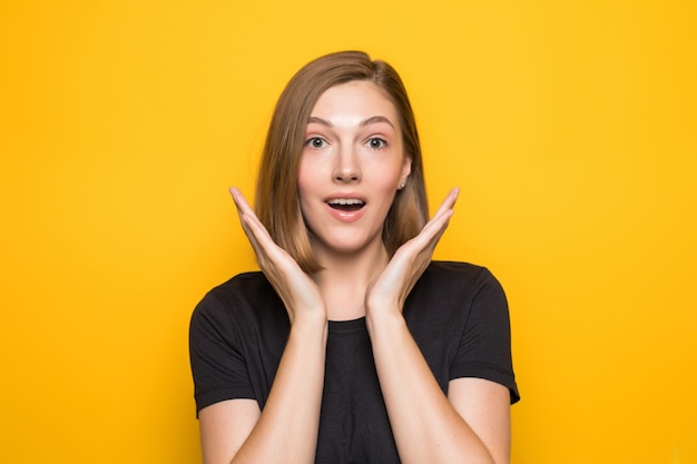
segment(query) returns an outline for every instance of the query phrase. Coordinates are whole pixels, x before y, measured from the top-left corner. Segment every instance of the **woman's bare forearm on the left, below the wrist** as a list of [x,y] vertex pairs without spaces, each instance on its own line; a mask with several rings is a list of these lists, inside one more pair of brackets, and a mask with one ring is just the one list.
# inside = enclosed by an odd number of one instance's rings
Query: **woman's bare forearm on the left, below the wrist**
[[268,401],[233,464],[314,462],[324,385],[326,326],[326,320],[293,325]]

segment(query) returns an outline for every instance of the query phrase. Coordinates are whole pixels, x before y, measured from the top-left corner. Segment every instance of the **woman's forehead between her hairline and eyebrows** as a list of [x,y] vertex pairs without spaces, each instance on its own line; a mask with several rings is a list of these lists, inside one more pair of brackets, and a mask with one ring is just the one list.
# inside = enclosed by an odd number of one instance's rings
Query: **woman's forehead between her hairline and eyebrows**
[[363,118],[383,116],[395,127],[397,110],[387,93],[367,80],[353,80],[330,87],[317,99],[311,116],[330,118],[351,115]]

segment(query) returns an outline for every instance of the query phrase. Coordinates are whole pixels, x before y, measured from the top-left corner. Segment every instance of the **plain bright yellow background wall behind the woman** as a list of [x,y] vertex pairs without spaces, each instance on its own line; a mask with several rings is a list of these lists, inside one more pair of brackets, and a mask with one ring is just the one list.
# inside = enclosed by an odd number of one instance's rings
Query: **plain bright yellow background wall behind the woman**
[[190,312],[255,266],[272,107],[364,49],[411,92],[438,258],[510,299],[513,464],[695,463],[691,1],[0,3],[0,462],[199,460]]

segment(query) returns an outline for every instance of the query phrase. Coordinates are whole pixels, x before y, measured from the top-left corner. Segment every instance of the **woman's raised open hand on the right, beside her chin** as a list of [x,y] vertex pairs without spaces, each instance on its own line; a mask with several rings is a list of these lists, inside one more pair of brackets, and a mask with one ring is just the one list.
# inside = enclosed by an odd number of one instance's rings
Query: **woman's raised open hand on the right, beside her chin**
[[402,245],[384,270],[365,292],[367,314],[385,310],[401,312],[404,300],[431,263],[433,250],[448,227],[460,189],[450,190],[435,215],[418,236]]

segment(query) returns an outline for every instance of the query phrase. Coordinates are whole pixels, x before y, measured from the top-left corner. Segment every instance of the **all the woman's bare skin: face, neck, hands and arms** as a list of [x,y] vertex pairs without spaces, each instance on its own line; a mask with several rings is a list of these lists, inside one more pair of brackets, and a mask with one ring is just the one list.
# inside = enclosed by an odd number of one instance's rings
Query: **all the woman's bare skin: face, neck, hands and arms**
[[[400,182],[408,181],[411,161],[396,121],[390,100],[363,81],[331,88],[313,109],[298,192],[313,250],[324,266],[315,275],[305,274],[272,240],[239,190],[230,189],[259,268],[288,312],[291,334],[263,412],[249,399],[200,411],[206,464],[313,463],[327,320],[361,316],[403,463],[509,462],[508,389],[460,378],[443,395],[402,317],[459,191],[451,190],[421,233],[389,259],[382,225]],[[357,218],[337,218],[326,204],[336,196],[365,201]]]

